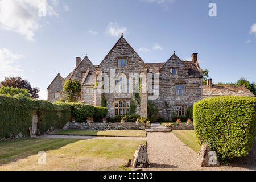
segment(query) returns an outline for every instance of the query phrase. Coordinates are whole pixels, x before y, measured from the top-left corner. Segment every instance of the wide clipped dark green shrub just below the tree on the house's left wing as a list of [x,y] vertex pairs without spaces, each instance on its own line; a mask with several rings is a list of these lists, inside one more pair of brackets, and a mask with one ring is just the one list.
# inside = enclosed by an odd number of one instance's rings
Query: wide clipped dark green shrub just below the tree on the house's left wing
[[86,122],[87,117],[93,118],[94,106],[77,102],[68,103],[72,107],[72,117],[76,122]]

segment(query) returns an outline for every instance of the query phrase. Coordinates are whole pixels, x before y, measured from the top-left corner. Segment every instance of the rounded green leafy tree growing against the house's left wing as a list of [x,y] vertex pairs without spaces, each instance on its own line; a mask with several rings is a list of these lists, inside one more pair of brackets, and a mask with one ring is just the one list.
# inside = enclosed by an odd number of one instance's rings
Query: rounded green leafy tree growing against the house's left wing
[[65,100],[67,102],[77,102],[77,98],[80,96],[82,85],[78,80],[66,80],[63,85],[63,91],[65,92]]

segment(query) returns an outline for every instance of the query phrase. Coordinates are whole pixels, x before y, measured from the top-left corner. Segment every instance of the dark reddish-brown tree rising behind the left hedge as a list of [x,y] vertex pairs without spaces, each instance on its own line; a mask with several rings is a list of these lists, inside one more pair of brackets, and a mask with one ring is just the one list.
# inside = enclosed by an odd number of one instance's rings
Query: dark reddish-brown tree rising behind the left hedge
[[23,80],[21,77],[5,77],[5,80],[1,82],[1,86],[19,88],[19,89],[27,89],[28,93],[30,93],[32,98],[38,98],[40,91],[38,87],[32,88],[30,82],[27,80]]

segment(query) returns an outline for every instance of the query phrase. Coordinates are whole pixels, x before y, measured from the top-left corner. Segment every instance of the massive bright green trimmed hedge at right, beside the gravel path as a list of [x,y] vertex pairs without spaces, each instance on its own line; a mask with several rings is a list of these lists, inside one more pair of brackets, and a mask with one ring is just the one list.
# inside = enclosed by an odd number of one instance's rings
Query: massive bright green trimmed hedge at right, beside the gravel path
[[205,98],[193,107],[197,141],[217,152],[221,162],[246,156],[255,140],[256,98]]

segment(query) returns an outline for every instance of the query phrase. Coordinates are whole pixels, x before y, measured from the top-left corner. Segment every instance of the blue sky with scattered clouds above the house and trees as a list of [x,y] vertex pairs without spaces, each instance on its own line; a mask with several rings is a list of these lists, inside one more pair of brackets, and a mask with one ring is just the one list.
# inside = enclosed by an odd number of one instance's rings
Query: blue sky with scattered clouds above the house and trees
[[100,64],[123,32],[146,63],[198,52],[214,83],[255,82],[255,7],[253,0],[0,0],[0,80],[20,75],[46,99],[58,71],[66,77],[86,53]]

